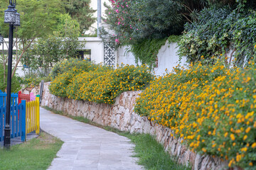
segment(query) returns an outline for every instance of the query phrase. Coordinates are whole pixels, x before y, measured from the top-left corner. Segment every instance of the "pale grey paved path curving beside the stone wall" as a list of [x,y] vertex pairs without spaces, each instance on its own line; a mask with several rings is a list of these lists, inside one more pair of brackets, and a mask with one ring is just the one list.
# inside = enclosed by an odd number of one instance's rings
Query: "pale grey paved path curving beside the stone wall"
[[64,144],[49,169],[55,170],[136,170],[143,169],[132,157],[132,143],[127,137],[108,132],[77,120],[40,108],[41,129]]

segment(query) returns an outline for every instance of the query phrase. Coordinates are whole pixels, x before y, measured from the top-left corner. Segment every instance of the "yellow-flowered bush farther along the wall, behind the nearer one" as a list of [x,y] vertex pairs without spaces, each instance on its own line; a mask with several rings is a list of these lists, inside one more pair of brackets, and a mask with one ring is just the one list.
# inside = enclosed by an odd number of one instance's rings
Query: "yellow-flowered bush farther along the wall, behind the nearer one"
[[87,71],[74,67],[59,74],[50,84],[50,93],[75,100],[113,104],[114,98],[124,91],[144,89],[151,79],[149,68],[144,65],[125,65],[113,69],[92,64]]

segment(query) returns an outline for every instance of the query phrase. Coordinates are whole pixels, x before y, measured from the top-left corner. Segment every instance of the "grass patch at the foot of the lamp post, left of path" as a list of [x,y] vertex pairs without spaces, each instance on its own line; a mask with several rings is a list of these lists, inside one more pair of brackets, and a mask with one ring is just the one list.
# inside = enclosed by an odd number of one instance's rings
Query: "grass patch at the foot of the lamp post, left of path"
[[47,169],[62,145],[58,138],[41,132],[37,138],[11,146],[11,150],[0,149],[0,169]]

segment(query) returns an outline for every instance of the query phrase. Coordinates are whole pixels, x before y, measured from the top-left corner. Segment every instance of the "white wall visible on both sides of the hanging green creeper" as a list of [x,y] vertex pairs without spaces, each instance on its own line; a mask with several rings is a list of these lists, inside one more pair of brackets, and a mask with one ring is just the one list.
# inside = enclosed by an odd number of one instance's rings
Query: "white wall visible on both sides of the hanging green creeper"
[[[126,52],[126,49],[128,49],[128,47],[119,48],[117,52],[117,63],[137,65],[135,63],[135,58],[132,52]],[[181,66],[186,64],[186,57],[183,57],[181,61],[179,61],[177,51],[178,46],[176,43],[169,43],[168,41],[166,41],[166,44],[161,47],[157,55],[159,66],[154,69],[156,75],[164,75],[166,73],[166,69],[168,69],[168,72],[171,72],[173,70],[173,67],[176,67],[176,65],[178,64],[180,64]]]

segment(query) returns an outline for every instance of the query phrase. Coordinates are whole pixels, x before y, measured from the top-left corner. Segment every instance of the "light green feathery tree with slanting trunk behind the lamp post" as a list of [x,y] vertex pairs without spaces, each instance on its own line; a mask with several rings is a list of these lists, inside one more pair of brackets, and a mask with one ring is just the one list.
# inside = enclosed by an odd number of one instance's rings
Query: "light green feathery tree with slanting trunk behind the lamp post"
[[[9,1],[0,1],[0,10],[4,11]],[[53,33],[58,23],[58,16],[63,11],[63,1],[60,0],[19,0],[16,8],[21,14],[21,26],[16,28],[19,50],[21,54],[14,66],[14,77],[18,62],[36,38],[43,38]],[[0,13],[1,33],[9,35],[9,25],[4,23],[4,13]]]

